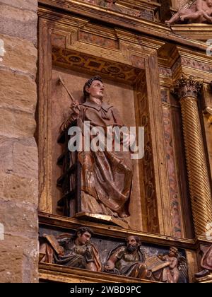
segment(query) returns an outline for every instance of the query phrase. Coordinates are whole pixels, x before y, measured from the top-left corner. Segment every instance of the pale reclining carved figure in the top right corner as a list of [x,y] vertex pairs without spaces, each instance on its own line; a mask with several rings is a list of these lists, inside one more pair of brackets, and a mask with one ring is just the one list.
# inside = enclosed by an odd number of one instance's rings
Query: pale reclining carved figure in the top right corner
[[177,21],[188,20],[190,23],[212,23],[212,0],[194,0],[179,8],[169,21],[165,21],[167,25],[176,23]]

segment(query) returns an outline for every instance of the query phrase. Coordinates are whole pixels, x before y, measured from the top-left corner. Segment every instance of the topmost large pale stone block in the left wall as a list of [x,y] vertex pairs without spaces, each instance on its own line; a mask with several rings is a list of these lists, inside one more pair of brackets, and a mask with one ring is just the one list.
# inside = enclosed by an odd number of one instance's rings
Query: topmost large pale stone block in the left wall
[[0,32],[37,44],[37,13],[0,4]]

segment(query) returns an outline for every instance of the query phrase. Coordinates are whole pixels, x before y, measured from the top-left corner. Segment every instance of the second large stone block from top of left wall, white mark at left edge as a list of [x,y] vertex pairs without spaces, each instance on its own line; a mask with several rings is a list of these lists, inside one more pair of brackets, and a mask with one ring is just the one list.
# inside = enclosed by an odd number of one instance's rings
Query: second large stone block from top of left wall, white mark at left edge
[[4,55],[1,56],[0,66],[23,72],[23,74],[35,78],[37,72],[37,50],[32,42],[1,34],[0,40],[2,46],[4,46],[4,49],[2,49],[4,50]]

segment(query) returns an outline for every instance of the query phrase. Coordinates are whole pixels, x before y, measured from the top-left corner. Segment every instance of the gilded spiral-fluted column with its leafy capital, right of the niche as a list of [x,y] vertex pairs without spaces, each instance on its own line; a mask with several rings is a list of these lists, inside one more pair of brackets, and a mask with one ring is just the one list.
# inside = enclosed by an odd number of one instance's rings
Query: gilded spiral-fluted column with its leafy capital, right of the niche
[[197,105],[201,84],[192,76],[182,76],[172,90],[181,105],[189,192],[196,235],[206,233],[210,228],[208,223],[212,222],[211,188]]

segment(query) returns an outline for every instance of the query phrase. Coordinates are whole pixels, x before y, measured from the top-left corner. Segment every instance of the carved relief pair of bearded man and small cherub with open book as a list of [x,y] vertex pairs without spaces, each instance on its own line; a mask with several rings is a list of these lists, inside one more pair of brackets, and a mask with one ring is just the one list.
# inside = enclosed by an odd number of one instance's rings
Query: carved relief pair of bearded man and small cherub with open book
[[125,245],[110,252],[104,271],[163,283],[187,282],[188,278],[186,260],[177,248],[171,247],[166,255],[149,256],[136,235],[127,236]]

